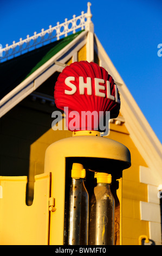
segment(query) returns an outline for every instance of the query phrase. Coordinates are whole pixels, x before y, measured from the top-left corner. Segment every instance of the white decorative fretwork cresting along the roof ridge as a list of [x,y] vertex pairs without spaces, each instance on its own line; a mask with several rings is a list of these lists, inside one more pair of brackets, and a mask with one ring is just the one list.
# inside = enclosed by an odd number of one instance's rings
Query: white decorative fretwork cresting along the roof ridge
[[8,59],[17,57],[23,53],[26,53],[35,48],[41,47],[45,44],[49,44],[55,39],[59,40],[60,36],[67,36],[68,33],[76,33],[76,30],[81,28],[81,30],[86,29],[87,23],[90,22],[92,14],[90,13],[90,5],[88,2],[87,13],[81,12],[80,16],[73,15],[72,20],[65,19],[63,23],[57,22],[55,27],[49,26],[49,29],[45,30],[42,28],[41,33],[34,32],[33,36],[27,35],[27,38],[22,40],[20,38],[19,42],[13,41],[12,45],[5,45],[5,48],[0,46],[0,62],[4,62]]

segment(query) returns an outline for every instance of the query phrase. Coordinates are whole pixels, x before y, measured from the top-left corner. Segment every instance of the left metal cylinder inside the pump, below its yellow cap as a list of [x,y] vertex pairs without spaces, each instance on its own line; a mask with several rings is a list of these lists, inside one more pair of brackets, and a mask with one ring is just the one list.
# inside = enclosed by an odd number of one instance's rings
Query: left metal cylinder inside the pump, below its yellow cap
[[89,196],[82,178],[72,178],[69,195],[68,245],[88,245]]

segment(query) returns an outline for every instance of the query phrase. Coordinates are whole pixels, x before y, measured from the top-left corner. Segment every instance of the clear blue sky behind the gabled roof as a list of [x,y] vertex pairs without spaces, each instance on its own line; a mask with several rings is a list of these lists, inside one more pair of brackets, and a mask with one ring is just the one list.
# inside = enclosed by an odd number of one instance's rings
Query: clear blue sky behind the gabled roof
[[[87,11],[86,0],[1,0],[0,44],[25,39]],[[91,0],[94,31],[162,142],[161,0]]]

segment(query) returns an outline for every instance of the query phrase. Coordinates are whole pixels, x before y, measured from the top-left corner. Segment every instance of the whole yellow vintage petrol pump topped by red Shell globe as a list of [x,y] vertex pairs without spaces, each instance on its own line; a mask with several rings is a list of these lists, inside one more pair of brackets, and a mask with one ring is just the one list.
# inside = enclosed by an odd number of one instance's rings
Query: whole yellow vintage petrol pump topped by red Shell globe
[[101,136],[107,114],[119,114],[116,84],[99,65],[75,62],[60,74],[55,102],[73,132],[46,150],[49,244],[121,245],[122,170],[131,166],[131,156],[124,145]]

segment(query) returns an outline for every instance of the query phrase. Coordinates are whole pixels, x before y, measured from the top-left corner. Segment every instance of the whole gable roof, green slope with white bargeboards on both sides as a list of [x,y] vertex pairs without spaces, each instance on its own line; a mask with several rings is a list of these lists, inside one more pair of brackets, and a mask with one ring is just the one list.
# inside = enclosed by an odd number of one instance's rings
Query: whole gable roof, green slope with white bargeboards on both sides
[[[19,65],[22,70],[22,75],[17,78],[19,79],[19,82],[17,80],[17,86],[16,82],[15,84],[10,83],[8,94],[0,101],[1,116],[7,113],[30,93],[34,92],[34,90],[46,81],[48,77],[54,74],[55,71],[61,72],[64,68],[63,64],[66,64],[69,58],[73,57],[73,62],[77,61],[76,53],[85,44],[87,48],[87,60],[89,62],[93,61],[93,53],[95,50],[100,59],[100,66],[105,68],[114,78],[119,89],[121,97],[121,113],[124,115],[125,126],[129,131],[129,136],[132,138],[132,141],[138,148],[148,167],[152,170],[152,174],[157,176],[159,184],[162,183],[162,145],[153,132],[150,124],[148,124],[144,114],[140,111],[140,108],[133,99],[133,96],[129,92],[118,71],[115,69],[111,59],[109,59],[107,53],[103,49],[99,39],[94,34],[93,24],[90,20],[86,25],[85,31],[71,35],[57,43],[52,43],[49,47],[44,46],[40,50],[27,54],[27,59],[34,59],[33,54],[35,54],[36,58],[32,68],[30,66],[31,69],[27,69],[27,72],[21,66],[21,60],[24,60],[25,63],[25,54],[20,58],[15,58],[15,60],[20,59]],[[28,64],[30,64],[31,59]],[[14,63],[14,60],[10,60],[9,62],[6,62],[6,64],[2,63],[2,66],[8,65],[8,63],[11,65]],[[5,74],[7,74],[7,71]],[[14,75],[14,77],[16,76],[17,74]]]

